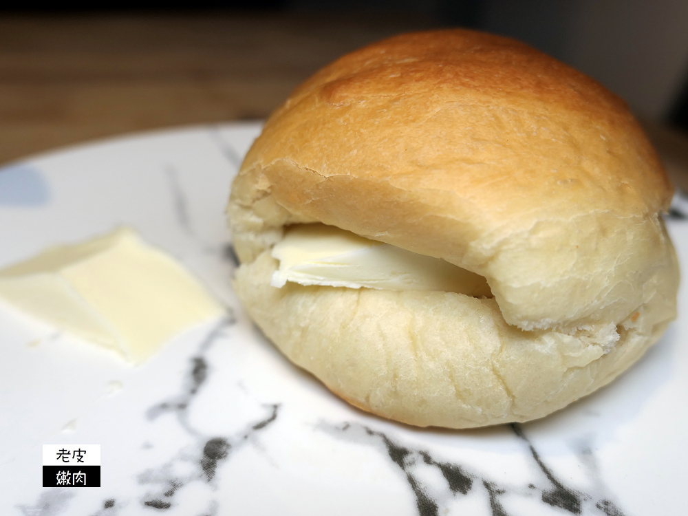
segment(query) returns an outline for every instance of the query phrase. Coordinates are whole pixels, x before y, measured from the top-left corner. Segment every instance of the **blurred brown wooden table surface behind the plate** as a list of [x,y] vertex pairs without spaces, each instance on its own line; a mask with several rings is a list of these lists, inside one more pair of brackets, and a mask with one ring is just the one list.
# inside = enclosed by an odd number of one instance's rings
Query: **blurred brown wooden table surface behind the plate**
[[[0,19],[0,163],[158,127],[265,118],[337,56],[426,19],[130,14]],[[645,121],[688,191],[688,138]]]

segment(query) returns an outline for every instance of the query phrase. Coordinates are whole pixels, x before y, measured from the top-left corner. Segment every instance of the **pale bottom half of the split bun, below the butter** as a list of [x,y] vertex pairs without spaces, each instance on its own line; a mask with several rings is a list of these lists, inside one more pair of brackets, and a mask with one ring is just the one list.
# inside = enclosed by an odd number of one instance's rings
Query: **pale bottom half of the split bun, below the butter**
[[384,418],[459,429],[541,418],[619,376],[676,317],[670,261],[627,319],[574,334],[519,330],[494,299],[453,292],[273,288],[269,250],[237,269],[234,286],[266,336],[337,396]]

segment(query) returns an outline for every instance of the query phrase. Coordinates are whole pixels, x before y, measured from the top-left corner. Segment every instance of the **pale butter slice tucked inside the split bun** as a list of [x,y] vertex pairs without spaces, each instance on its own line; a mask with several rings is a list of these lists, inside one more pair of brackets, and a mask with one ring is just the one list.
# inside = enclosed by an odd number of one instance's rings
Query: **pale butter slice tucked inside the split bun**
[[442,290],[491,296],[484,277],[442,259],[418,255],[325,224],[301,224],[286,230],[272,248],[279,270],[270,284],[387,290]]

